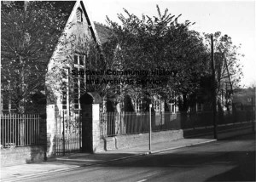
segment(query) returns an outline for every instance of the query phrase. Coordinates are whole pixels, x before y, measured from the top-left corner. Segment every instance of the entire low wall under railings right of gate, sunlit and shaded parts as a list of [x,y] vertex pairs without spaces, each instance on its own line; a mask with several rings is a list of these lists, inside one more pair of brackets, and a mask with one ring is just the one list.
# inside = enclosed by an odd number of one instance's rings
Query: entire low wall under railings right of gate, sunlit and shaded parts
[[[153,132],[152,144],[183,138],[197,138],[206,135],[213,137],[212,131],[213,128],[210,127]],[[218,139],[225,139],[231,136],[251,133],[253,133],[252,122],[241,122],[235,125],[218,126]],[[100,145],[98,145],[96,152],[127,149],[139,145],[148,145],[148,133],[127,134],[101,139]]]

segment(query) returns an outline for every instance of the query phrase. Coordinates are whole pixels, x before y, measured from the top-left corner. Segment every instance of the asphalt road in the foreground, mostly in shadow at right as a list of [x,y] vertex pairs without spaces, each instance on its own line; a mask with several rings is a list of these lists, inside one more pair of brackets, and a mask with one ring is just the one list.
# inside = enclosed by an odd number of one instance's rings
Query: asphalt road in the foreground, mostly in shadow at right
[[255,135],[25,181],[255,181]]

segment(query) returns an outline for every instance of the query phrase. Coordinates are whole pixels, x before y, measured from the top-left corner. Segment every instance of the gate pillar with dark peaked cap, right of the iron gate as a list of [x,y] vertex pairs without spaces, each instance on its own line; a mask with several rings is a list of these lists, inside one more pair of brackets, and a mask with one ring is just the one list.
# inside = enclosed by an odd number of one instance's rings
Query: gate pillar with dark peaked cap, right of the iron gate
[[82,151],[94,153],[100,145],[100,104],[97,93],[86,93],[80,98],[82,113]]

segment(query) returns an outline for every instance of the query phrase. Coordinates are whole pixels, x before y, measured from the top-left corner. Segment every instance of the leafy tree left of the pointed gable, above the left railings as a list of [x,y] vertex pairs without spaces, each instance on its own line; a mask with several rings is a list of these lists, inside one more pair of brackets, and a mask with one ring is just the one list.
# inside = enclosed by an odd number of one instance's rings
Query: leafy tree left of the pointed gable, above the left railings
[[46,66],[68,15],[55,2],[2,2],[3,97],[20,113],[32,94],[44,90]]

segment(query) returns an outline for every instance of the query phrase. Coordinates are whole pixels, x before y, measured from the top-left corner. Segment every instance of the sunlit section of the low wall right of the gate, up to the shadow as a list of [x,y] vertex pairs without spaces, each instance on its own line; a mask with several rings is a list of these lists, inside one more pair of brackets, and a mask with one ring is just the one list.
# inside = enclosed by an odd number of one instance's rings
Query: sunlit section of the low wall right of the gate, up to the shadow
[[[153,144],[183,139],[183,130],[153,132],[151,139]],[[101,139],[97,151],[127,149],[139,145],[148,145],[148,134],[127,134]]]

